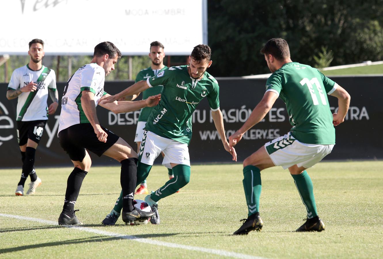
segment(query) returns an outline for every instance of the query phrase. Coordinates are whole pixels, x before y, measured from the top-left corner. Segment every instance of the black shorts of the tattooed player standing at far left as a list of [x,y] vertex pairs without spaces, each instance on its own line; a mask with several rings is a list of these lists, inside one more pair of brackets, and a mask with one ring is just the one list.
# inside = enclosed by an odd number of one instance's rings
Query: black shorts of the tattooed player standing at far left
[[39,121],[18,121],[17,122],[17,141],[19,146],[28,142],[28,138],[36,143],[40,142],[47,120]]

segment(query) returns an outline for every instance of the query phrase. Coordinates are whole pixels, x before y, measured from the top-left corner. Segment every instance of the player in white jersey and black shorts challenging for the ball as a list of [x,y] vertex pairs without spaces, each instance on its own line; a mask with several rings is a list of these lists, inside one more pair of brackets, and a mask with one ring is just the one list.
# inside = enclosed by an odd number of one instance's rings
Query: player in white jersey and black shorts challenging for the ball
[[[96,106],[104,91],[105,77],[115,69],[121,52],[111,42],[101,42],[94,49],[92,63],[80,67],[69,78],[61,99],[61,114],[58,137],[61,147],[68,153],[74,169],[70,173],[65,192],[64,207],[59,216],[59,225],[79,225],[74,205],[83,179],[92,161],[88,151],[98,156],[105,155],[121,163],[121,187],[123,189],[123,220],[133,223],[138,218],[149,218],[154,212],[134,209],[136,187],[137,153],[122,138],[102,127],[97,119]],[[142,101],[115,101],[102,104],[115,113],[136,111],[155,106],[160,94]]]

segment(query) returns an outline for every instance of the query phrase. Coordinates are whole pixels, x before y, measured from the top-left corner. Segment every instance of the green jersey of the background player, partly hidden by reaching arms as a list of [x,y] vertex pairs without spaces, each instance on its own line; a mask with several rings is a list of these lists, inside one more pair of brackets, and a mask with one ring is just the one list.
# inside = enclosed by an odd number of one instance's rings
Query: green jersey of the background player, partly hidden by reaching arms
[[[136,83],[141,80],[146,80],[149,77],[154,77],[158,73],[160,73],[162,70],[166,69],[167,66],[165,66],[162,69],[152,69],[151,67],[142,69],[140,72],[138,72],[136,77]],[[164,88],[162,85],[155,86],[152,88],[149,88],[142,92],[142,99],[146,99],[149,96],[156,95],[162,92],[162,88]],[[138,117],[138,121],[147,121],[147,118],[152,113],[153,108],[152,107],[145,107],[141,109],[140,116]]]

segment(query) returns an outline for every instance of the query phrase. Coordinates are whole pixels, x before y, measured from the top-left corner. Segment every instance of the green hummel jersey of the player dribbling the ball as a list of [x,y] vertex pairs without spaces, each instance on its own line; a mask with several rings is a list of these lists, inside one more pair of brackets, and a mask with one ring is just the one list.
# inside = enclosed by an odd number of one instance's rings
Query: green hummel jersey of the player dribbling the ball
[[219,109],[218,82],[205,72],[201,79],[193,79],[188,66],[169,67],[147,79],[149,86],[163,85],[161,101],[154,107],[145,129],[161,137],[189,144],[191,116],[200,101],[207,97],[212,111]]

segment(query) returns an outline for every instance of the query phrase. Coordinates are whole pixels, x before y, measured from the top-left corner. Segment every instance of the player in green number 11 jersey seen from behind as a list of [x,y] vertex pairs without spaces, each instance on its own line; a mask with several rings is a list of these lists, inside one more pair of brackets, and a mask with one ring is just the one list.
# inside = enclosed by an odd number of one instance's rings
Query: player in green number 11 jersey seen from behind
[[[337,83],[309,65],[292,62],[284,39],[270,39],[261,50],[273,73],[266,82],[266,93],[254,108],[249,119],[229,137],[236,145],[243,134],[260,122],[280,97],[285,103],[290,124],[288,134],[272,140],[247,157],[243,162],[243,186],[248,218],[234,235],[260,231],[259,197],[262,189],[260,171],[272,166],[288,168],[307,210],[307,220],[296,231],[322,231],[324,223],[318,217],[313,183],[306,169],[329,154],[335,145],[334,126],[344,121],[350,95]],[[338,98],[339,109],[331,114],[327,96]]]

